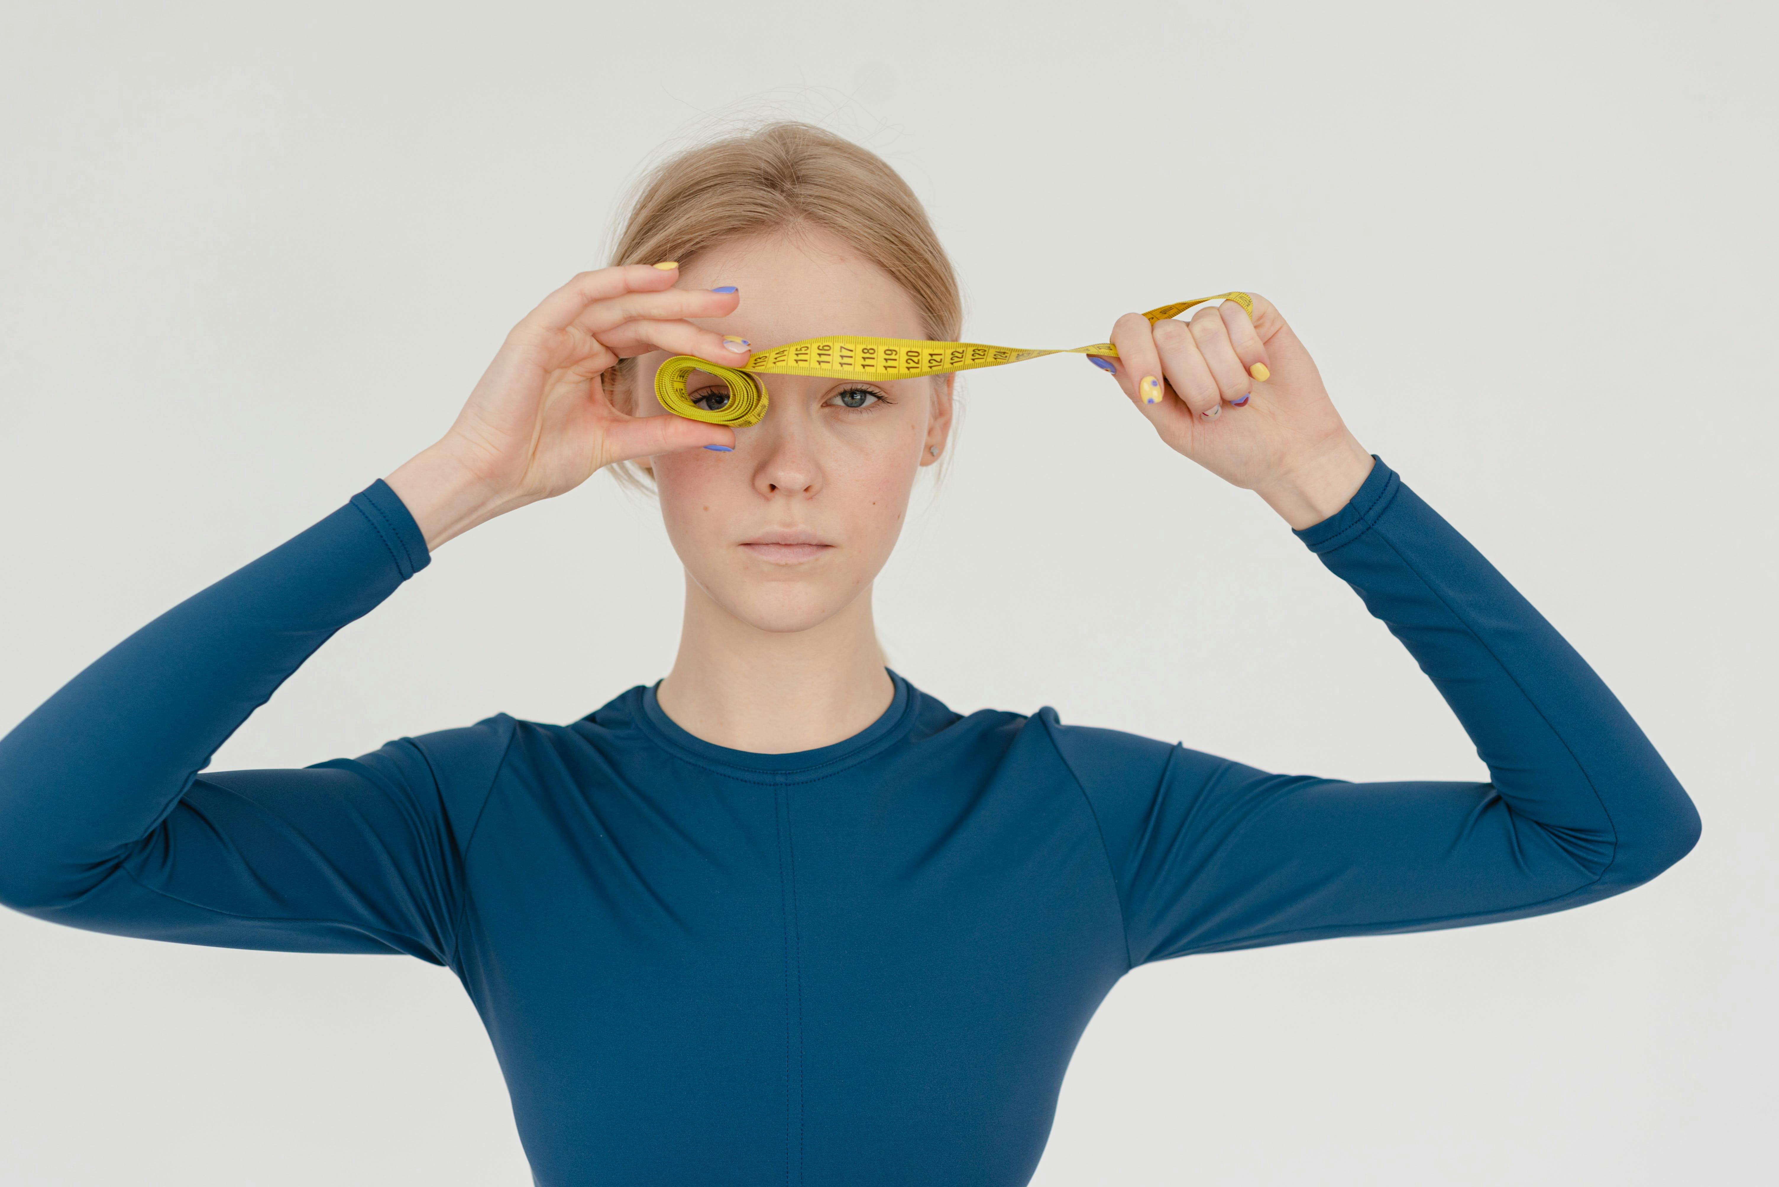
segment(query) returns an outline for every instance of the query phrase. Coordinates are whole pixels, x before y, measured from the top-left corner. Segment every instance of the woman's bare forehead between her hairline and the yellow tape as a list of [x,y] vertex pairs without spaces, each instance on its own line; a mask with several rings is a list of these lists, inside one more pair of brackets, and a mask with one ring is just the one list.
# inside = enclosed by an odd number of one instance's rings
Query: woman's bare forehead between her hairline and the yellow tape
[[754,350],[825,334],[927,336],[907,290],[827,231],[720,243],[681,267],[680,284],[740,288],[740,307],[708,323],[749,339]]

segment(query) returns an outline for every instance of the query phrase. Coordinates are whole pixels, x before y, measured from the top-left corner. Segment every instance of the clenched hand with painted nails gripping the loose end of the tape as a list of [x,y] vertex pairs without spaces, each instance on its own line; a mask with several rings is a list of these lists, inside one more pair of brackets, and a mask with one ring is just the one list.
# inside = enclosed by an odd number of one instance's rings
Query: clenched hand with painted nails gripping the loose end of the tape
[[1233,300],[1201,306],[1190,322],[1124,315],[1112,327],[1114,375],[1162,441],[1308,528],[1347,505],[1372,455],[1292,327],[1270,300],[1249,297],[1252,320]]

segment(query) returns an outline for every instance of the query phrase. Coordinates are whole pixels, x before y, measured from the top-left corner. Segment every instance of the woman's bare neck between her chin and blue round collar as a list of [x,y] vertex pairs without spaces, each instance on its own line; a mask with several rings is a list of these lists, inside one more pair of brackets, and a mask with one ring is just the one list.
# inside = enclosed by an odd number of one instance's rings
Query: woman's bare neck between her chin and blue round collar
[[790,753],[845,741],[895,700],[872,592],[808,631],[761,631],[687,576],[680,654],[655,697],[674,725],[731,750]]

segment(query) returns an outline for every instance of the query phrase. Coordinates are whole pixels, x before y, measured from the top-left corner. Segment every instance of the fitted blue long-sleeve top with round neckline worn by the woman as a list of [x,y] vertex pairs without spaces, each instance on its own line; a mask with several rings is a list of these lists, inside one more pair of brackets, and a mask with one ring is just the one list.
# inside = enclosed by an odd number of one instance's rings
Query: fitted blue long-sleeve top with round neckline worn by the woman
[[1489,782],[1274,775],[897,673],[866,730],[701,741],[637,686],[302,769],[205,771],[429,562],[381,480],[0,739],[0,901],[183,944],[407,952],[463,981],[537,1183],[1025,1183],[1130,968],[1566,910],[1697,840],[1557,631],[1381,460],[1297,533],[1413,652]]

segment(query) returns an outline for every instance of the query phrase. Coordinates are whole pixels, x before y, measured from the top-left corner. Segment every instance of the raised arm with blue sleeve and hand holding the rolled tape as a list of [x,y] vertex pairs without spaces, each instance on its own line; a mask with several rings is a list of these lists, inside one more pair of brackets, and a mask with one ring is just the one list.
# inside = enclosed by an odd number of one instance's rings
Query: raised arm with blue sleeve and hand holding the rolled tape
[[576,275],[509,332],[438,444],[139,629],[0,739],[0,903],[94,931],[448,963],[461,853],[511,720],[301,769],[199,771],[443,540],[607,462],[731,434],[605,398],[621,355],[728,355],[685,318],[738,297],[672,283],[648,267]]

